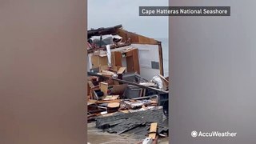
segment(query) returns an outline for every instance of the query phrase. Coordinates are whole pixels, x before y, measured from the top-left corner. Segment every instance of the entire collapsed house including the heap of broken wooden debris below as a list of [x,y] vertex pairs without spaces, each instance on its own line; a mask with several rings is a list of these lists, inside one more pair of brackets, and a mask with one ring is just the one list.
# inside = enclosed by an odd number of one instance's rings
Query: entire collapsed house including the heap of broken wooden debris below
[[[162,43],[123,30],[122,25],[88,30],[87,34],[88,120],[96,120],[98,128],[116,128],[115,132],[122,134],[152,123],[152,118],[139,121],[136,117],[125,131],[118,131],[125,126],[124,120],[135,118],[136,113],[161,108],[167,115],[169,80],[163,76]],[[119,113],[126,116],[117,119]],[[108,123],[102,116],[114,116],[116,121],[112,118]],[[160,127],[168,133],[168,126]]]

